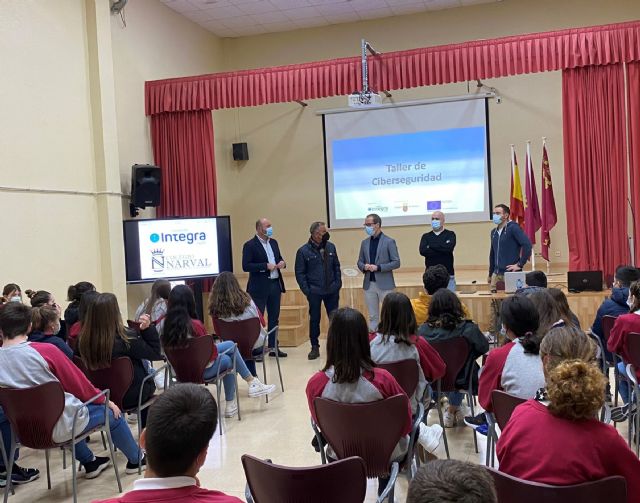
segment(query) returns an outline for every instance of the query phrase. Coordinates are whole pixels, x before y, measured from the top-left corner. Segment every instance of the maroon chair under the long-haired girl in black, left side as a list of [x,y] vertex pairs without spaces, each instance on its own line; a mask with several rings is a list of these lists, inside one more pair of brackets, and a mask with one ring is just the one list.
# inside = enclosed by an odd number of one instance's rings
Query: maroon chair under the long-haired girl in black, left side
[[[155,377],[155,375],[161,370],[166,370],[167,365],[163,365],[158,369],[154,369],[153,372],[149,373],[140,383],[140,391],[138,392],[138,405],[136,407],[126,408],[123,403],[124,395],[127,390],[131,387],[133,383],[133,363],[131,359],[123,356],[120,358],[114,358],[111,360],[111,366],[98,369],[98,370],[89,370],[88,368],[83,369],[83,372],[91,381],[91,383],[98,389],[101,390],[110,390],[111,392],[111,401],[115,403],[120,410],[125,414],[133,414],[135,413],[138,418],[138,445],[140,445],[140,434],[142,433],[142,411],[148,408],[156,399],[156,395],[153,395],[149,400],[143,402],[142,401],[142,393],[144,391],[144,384],[149,380]],[[153,382],[153,381],[152,381]],[[138,455],[138,473],[142,473],[142,465],[140,463],[140,457],[142,456],[142,452]]]

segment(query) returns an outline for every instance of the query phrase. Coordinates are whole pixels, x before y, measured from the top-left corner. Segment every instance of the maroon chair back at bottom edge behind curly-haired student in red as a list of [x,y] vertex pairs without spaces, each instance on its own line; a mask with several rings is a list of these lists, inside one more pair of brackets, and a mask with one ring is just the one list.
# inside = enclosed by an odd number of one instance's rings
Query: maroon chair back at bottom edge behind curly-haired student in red
[[493,468],[487,468],[493,477],[498,503],[626,503],[627,482],[624,477],[607,477],[569,486],[552,486],[529,482]]

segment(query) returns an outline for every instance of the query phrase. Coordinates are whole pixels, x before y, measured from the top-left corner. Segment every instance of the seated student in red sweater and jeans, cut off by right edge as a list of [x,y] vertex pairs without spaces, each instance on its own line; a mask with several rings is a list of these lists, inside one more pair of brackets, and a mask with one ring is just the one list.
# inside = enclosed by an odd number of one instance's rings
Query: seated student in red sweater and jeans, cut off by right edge
[[[629,353],[627,352],[627,340],[630,334],[640,334],[640,281],[634,281],[629,287],[629,298],[627,299],[630,313],[621,314],[611,329],[607,349],[612,353],[619,354],[622,362],[618,363],[618,373],[622,377],[619,383],[620,397],[624,406],[615,407],[611,410],[611,419],[620,422],[624,421],[629,414],[630,391],[627,377],[627,363]],[[640,377],[640,369],[635,369]]]

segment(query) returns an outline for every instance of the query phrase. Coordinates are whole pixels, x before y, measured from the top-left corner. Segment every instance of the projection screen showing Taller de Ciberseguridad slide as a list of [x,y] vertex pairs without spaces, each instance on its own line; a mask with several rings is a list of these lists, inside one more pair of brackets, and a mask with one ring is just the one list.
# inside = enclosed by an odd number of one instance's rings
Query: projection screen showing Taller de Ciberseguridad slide
[[327,201],[335,228],[487,221],[489,156],[482,99],[325,116]]

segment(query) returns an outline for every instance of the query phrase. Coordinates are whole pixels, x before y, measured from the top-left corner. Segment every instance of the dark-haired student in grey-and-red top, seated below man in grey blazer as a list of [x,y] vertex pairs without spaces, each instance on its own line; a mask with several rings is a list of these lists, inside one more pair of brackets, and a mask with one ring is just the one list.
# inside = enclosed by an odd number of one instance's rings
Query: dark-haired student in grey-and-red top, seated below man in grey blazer
[[[378,332],[371,334],[371,359],[376,363],[415,360],[418,367],[418,386],[411,400],[411,412],[416,413],[429,382],[445,373],[446,366],[438,352],[422,337],[417,337],[416,318],[411,301],[404,293],[388,293],[382,301]],[[427,452],[438,448],[442,437],[439,424],[420,424],[418,441]]]

